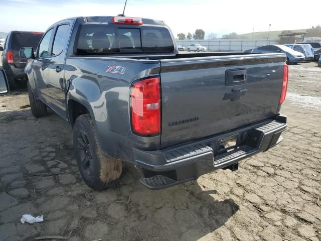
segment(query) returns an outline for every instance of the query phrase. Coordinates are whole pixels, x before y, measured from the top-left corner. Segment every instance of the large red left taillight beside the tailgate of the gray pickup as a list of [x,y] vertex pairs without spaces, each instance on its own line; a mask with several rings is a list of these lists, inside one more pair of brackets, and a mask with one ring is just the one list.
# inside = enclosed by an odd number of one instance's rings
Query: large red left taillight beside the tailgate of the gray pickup
[[138,135],[161,132],[161,93],[158,77],[135,82],[131,87],[131,125]]

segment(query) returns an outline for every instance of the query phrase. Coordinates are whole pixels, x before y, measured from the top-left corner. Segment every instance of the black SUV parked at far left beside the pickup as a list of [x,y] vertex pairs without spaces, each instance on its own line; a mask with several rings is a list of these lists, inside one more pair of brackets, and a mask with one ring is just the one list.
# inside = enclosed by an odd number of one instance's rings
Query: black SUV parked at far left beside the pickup
[[1,59],[11,88],[21,88],[27,83],[24,71],[27,59],[19,55],[20,49],[22,47],[36,49],[42,36],[43,33],[39,32],[11,31],[8,34]]

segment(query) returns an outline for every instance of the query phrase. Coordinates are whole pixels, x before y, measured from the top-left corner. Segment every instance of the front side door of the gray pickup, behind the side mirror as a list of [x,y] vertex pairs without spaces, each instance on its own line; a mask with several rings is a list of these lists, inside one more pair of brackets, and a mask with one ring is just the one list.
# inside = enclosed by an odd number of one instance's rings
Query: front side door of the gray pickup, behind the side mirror
[[51,106],[51,98],[48,89],[48,65],[50,65],[53,28],[48,30],[39,43],[36,58],[33,63],[35,82],[40,99]]

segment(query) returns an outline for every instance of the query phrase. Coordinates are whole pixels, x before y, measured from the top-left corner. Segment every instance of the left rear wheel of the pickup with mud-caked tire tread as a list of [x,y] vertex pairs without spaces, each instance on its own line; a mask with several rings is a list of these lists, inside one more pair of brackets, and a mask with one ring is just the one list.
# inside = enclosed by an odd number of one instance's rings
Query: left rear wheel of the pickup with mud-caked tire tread
[[84,182],[94,190],[114,187],[121,175],[122,161],[106,157],[100,150],[89,114],[80,115],[73,129],[76,160]]

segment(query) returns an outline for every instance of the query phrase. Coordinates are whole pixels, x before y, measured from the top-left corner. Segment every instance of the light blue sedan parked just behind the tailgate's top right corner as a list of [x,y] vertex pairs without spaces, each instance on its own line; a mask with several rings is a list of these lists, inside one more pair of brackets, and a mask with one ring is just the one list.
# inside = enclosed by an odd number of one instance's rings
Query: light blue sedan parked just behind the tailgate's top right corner
[[301,63],[305,60],[302,53],[294,51],[284,45],[263,45],[252,50],[252,53],[284,53],[287,64]]

